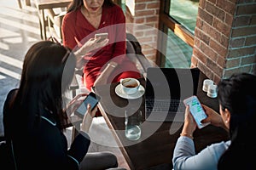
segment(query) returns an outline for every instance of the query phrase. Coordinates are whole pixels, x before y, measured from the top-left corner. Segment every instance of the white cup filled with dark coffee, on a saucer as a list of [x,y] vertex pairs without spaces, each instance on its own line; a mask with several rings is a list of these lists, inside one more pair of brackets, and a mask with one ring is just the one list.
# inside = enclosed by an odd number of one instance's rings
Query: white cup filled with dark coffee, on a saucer
[[120,84],[125,94],[136,94],[140,87],[140,82],[136,78],[121,79]]

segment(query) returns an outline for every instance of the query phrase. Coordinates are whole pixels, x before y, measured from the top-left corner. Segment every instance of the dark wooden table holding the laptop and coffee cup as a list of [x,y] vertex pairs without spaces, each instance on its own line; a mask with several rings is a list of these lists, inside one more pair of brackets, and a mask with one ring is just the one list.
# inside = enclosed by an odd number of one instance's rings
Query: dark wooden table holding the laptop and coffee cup
[[[201,85],[207,77],[201,73],[197,96],[201,103],[209,105],[218,111],[218,99],[211,99],[201,90]],[[140,79],[145,85],[144,79]],[[147,122],[144,117],[144,96],[140,99],[122,99],[115,94],[114,89],[118,83],[94,87],[96,94],[101,96],[99,109],[102,112],[108,127],[113,129],[113,135],[119,148],[125,156],[131,169],[172,169],[172,155],[177,138],[181,133],[182,122]],[[134,107],[143,111],[142,137],[136,142],[125,139],[124,111]],[[153,130],[154,129],[154,130]],[[172,134],[170,134],[172,129]],[[173,133],[175,132],[175,133]],[[218,127],[209,125],[194,133],[195,149],[200,151],[207,144],[229,139],[228,133]]]

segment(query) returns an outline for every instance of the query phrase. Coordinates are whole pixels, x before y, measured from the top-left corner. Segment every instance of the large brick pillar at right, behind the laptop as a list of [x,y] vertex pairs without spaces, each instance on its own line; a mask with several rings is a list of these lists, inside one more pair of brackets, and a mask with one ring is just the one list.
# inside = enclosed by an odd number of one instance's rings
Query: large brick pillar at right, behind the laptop
[[256,3],[201,0],[195,27],[192,67],[214,82],[234,72],[256,74]]

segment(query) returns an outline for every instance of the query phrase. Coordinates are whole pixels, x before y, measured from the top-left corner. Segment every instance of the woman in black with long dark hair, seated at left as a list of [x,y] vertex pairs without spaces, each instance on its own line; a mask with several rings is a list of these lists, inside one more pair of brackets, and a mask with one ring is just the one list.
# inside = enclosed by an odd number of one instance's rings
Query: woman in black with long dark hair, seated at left
[[[67,115],[81,103],[82,95],[78,95],[65,109],[63,96],[73,79],[75,65],[74,54],[59,43],[37,42],[27,51],[20,87],[9,92],[3,106],[4,136],[14,169],[92,169],[84,162],[88,161],[88,131],[97,109],[90,111],[88,105],[80,133],[70,148],[63,133]],[[108,160],[96,159],[96,167],[117,167],[111,153],[94,157]]]

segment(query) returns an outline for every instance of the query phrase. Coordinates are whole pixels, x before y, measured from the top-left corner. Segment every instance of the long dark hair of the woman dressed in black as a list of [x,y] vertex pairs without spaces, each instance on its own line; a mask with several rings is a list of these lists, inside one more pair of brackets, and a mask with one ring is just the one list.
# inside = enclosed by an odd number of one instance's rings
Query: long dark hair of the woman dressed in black
[[48,111],[57,127],[64,129],[67,114],[62,97],[72,81],[75,64],[73,53],[59,43],[41,41],[29,48],[11,107],[13,112],[20,112],[17,123],[22,122],[27,130],[33,129],[40,120],[38,117]]

